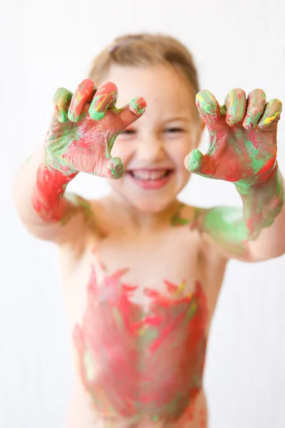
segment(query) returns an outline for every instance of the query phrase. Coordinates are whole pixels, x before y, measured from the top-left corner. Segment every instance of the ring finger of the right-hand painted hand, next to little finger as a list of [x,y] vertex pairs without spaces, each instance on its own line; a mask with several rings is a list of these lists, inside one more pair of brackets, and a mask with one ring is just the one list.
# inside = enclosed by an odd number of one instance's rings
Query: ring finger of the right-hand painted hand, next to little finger
[[247,96],[247,114],[244,118],[242,126],[245,129],[253,129],[257,126],[257,122],[264,111],[266,104],[266,95],[262,89],[254,89]]

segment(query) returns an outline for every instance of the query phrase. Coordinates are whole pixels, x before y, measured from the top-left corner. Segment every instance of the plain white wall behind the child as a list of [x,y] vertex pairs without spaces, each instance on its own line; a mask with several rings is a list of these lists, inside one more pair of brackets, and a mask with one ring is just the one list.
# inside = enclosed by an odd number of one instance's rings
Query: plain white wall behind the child
[[[1,3],[0,427],[62,428],[73,381],[58,259],[11,205],[16,168],[43,143],[58,86],[73,90],[91,58],[125,31],[167,31],[192,49],[202,87],[261,87],[285,103],[281,0],[27,0]],[[204,150],[206,136],[202,144]],[[285,116],[279,163],[285,171]],[[71,188],[105,193],[81,175]],[[239,203],[232,185],[193,178],[183,200]],[[285,257],[230,263],[204,379],[210,428],[285,427]],[[84,427],[83,427],[84,428]]]

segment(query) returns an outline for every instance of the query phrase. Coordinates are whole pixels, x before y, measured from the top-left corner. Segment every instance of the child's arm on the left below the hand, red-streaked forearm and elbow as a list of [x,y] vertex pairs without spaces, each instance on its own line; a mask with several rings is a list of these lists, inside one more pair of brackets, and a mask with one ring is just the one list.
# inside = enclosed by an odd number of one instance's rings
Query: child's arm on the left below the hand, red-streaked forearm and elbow
[[85,225],[93,225],[87,200],[65,193],[77,175],[64,175],[48,168],[43,148],[21,165],[14,180],[14,203],[28,231],[42,240],[66,243],[82,235]]

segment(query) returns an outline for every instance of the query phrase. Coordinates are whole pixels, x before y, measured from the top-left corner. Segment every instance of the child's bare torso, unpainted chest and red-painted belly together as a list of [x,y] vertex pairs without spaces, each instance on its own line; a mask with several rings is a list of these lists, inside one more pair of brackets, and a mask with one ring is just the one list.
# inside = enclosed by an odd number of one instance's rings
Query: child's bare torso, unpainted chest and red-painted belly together
[[61,260],[79,373],[69,426],[83,427],[84,413],[83,428],[205,427],[202,373],[224,260],[187,226],[90,234],[80,258]]

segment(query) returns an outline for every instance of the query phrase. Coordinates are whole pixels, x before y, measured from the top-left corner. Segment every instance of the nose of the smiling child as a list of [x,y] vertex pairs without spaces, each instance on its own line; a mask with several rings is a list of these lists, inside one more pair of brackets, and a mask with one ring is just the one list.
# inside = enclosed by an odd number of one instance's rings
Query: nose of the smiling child
[[136,155],[145,163],[161,161],[165,157],[162,139],[150,134],[141,136],[136,146]]

